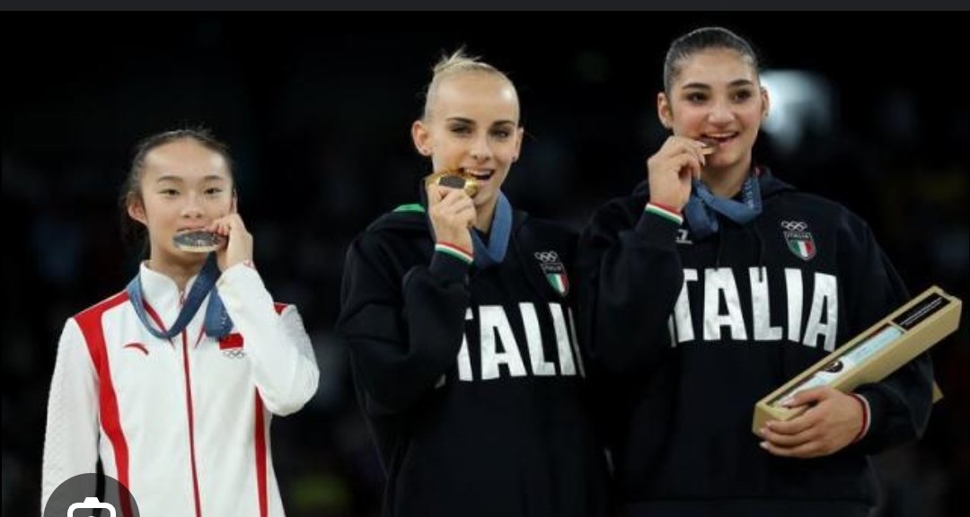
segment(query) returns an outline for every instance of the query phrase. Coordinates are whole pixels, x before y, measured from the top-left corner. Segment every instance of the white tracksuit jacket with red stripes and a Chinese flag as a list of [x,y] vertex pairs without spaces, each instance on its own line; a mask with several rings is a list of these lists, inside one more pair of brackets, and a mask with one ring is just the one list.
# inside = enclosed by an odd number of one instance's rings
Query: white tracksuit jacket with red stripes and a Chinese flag
[[[168,328],[182,303],[175,281],[145,265],[139,275],[149,317]],[[224,339],[202,332],[208,299],[173,339],[149,334],[124,291],[68,319],[50,385],[42,509],[100,456],[146,517],[283,515],[270,420],[316,392],[313,349],[296,307],[274,304],[252,268],[229,268],[216,286],[235,324]]]

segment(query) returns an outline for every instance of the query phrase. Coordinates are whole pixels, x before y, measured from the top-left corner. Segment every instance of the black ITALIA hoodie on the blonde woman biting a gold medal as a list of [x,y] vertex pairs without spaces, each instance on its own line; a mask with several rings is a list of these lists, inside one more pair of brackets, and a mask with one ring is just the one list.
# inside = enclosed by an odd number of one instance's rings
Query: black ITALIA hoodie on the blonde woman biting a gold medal
[[514,211],[504,260],[479,270],[434,251],[413,205],[351,244],[338,331],[387,472],[383,515],[606,514],[571,296],[546,277],[571,273],[575,242]]

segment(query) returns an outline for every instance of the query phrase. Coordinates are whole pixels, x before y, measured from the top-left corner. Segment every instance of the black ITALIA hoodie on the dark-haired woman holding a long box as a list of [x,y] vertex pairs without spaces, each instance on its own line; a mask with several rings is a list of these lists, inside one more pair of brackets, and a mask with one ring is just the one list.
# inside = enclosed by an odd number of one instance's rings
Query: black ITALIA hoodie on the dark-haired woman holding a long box
[[923,355],[857,388],[871,407],[857,443],[809,460],[759,447],[758,400],[908,299],[855,214],[759,180],[760,215],[743,226],[719,215],[702,241],[644,211],[645,181],[580,240],[580,342],[618,408],[609,441],[630,515],[864,514],[875,501],[866,455],[925,428]]

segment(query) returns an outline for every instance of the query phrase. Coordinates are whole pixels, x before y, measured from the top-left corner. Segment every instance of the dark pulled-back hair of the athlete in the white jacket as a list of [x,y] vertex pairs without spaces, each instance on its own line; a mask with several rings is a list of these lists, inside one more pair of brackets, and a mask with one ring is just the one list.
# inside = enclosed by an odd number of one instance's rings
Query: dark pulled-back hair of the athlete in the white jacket
[[[142,177],[145,176],[145,160],[148,153],[155,147],[170,144],[179,140],[193,140],[211,151],[218,153],[226,162],[226,170],[229,178],[233,178],[233,160],[229,155],[229,145],[225,145],[212,135],[210,129],[206,127],[192,127],[185,129],[175,129],[164,131],[146,137],[138,145],[135,145],[134,157],[131,160],[131,168],[128,170],[128,177],[125,178],[121,186],[121,196],[118,199],[118,208],[121,210],[121,240],[126,245],[138,246],[140,254],[145,255],[148,249],[146,239],[147,231],[143,224],[132,220],[128,215],[128,203],[133,196],[142,195]],[[235,189],[235,186],[233,187]]]

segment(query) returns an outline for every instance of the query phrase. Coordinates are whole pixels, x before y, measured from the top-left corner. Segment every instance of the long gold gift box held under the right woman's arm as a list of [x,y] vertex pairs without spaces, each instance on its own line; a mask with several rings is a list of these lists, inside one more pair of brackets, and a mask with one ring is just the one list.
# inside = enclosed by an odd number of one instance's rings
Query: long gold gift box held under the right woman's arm
[[[829,385],[842,392],[851,392],[860,384],[886,378],[889,373],[952,334],[960,324],[961,306],[958,298],[935,285],[926,289],[920,296],[758,401],[752,431],[757,435],[768,420],[789,420],[804,412],[808,408],[805,405],[782,405],[798,391]],[[934,384],[933,402],[941,397],[939,388]]]

